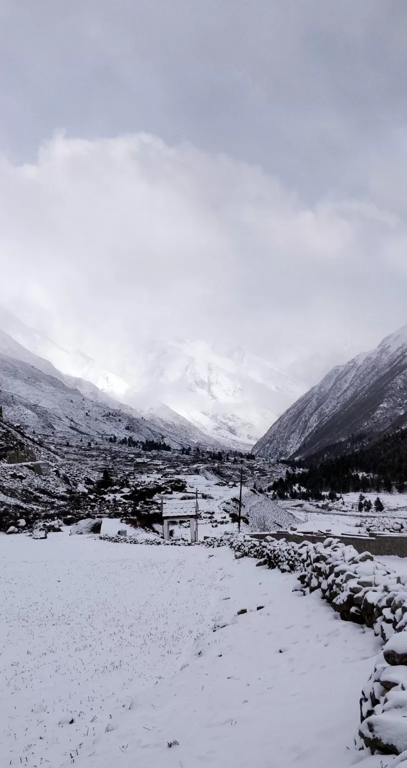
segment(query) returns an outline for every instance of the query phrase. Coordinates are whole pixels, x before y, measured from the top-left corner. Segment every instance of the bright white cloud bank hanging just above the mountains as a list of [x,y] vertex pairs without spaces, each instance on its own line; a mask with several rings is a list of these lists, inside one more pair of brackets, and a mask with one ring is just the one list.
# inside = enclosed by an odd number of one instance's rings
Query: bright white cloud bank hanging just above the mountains
[[261,167],[150,134],[56,134],[35,164],[0,162],[5,305],[116,370],[178,336],[313,379],[405,322],[406,245],[369,200],[311,206]]

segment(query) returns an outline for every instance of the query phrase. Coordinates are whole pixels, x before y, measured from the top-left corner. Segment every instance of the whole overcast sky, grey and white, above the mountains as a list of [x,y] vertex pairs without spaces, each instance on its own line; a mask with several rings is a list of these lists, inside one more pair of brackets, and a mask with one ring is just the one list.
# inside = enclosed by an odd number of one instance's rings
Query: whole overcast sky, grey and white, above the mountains
[[407,323],[403,0],[2,0],[2,301],[311,382]]

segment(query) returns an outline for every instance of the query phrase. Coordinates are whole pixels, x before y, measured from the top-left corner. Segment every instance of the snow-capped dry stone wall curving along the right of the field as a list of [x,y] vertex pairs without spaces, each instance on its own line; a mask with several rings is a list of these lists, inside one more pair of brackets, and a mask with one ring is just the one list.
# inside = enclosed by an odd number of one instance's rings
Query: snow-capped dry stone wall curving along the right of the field
[[[222,538],[235,557],[247,555],[269,568],[300,571],[299,591],[309,594],[319,589],[344,621],[373,627],[382,637],[382,652],[360,699],[359,737],[372,751],[407,760],[407,577],[335,538],[300,545],[271,536],[264,541]],[[205,545],[215,545],[215,540]]]

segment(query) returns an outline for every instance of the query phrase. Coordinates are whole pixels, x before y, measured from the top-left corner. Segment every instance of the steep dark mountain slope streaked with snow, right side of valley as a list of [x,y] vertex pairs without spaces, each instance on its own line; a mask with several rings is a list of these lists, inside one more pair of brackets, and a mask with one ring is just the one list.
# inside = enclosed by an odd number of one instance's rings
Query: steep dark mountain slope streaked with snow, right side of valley
[[333,368],[254,446],[263,458],[305,457],[363,433],[407,423],[407,326],[372,352]]

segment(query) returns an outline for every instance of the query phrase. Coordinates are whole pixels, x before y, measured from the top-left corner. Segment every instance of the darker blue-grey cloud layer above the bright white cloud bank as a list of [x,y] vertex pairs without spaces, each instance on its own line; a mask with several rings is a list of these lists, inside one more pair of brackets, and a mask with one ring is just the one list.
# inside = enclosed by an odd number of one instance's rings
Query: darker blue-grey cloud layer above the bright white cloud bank
[[406,22],[397,0],[3,0],[0,146],[32,160],[58,127],[147,131],[260,163],[313,203],[404,206]]

